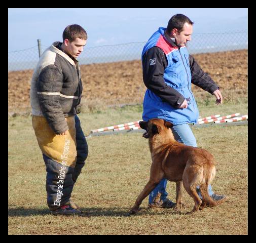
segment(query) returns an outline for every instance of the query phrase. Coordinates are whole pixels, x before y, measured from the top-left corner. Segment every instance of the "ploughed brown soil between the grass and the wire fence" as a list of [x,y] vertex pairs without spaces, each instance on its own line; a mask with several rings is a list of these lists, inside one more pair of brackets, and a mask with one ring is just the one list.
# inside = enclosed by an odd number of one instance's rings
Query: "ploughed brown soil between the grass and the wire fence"
[[[247,96],[247,50],[193,55],[212,79],[220,86],[224,100]],[[30,79],[33,70],[8,72],[9,112],[29,110]],[[141,61],[124,61],[81,65],[83,81],[82,106],[142,103],[145,86]],[[193,86],[196,99],[207,92]]]

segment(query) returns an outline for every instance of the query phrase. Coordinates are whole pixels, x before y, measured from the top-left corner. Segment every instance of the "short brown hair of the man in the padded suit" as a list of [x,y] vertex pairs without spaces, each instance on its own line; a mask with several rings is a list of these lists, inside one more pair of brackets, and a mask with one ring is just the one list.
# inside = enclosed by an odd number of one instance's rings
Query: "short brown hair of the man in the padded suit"
[[76,38],[86,40],[87,33],[84,30],[84,28],[82,28],[80,25],[70,24],[64,29],[64,31],[62,33],[62,38],[63,38],[63,42],[65,39],[68,39],[69,42],[73,42],[73,41],[75,41]]

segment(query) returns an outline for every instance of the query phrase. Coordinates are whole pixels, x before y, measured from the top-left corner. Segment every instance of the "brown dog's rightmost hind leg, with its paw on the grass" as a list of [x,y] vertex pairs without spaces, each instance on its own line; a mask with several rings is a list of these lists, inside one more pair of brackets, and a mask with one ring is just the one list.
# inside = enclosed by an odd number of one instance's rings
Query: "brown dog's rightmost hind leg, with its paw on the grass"
[[200,186],[200,192],[203,199],[202,207],[204,207],[206,204],[210,207],[217,206],[216,201],[214,201],[208,193],[208,185],[211,184],[211,181],[215,177],[215,172],[216,169],[214,165],[210,165],[208,168],[204,168],[205,182]]

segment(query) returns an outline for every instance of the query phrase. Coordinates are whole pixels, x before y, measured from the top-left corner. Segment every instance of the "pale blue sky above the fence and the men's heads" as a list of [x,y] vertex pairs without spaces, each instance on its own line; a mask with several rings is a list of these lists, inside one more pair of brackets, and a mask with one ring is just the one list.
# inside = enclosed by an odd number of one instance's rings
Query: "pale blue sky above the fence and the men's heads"
[[47,48],[62,41],[69,24],[87,31],[87,48],[145,42],[178,13],[195,22],[194,33],[248,29],[246,8],[9,8],[8,52],[34,47],[37,39]]

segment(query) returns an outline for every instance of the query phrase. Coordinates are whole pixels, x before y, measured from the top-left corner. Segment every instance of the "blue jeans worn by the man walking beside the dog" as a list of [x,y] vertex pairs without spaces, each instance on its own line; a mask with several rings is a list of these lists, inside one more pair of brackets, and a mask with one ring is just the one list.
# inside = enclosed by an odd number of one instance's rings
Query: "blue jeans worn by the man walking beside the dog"
[[[188,146],[193,146],[197,147],[197,142],[196,138],[193,134],[193,132],[190,129],[189,124],[180,124],[180,125],[175,125],[171,128],[172,133],[174,135],[174,138],[176,141],[180,143],[184,143],[185,145]],[[155,189],[150,193],[149,195],[149,204],[153,203],[153,200],[157,196],[158,192],[161,193],[160,200],[163,200],[167,197],[168,193],[166,192],[166,184],[167,180],[163,178],[159,184],[155,187]],[[209,195],[212,195],[214,192],[211,190],[211,185],[208,186],[208,192]],[[199,191],[199,187],[197,186],[197,193],[202,198],[202,195]]]

